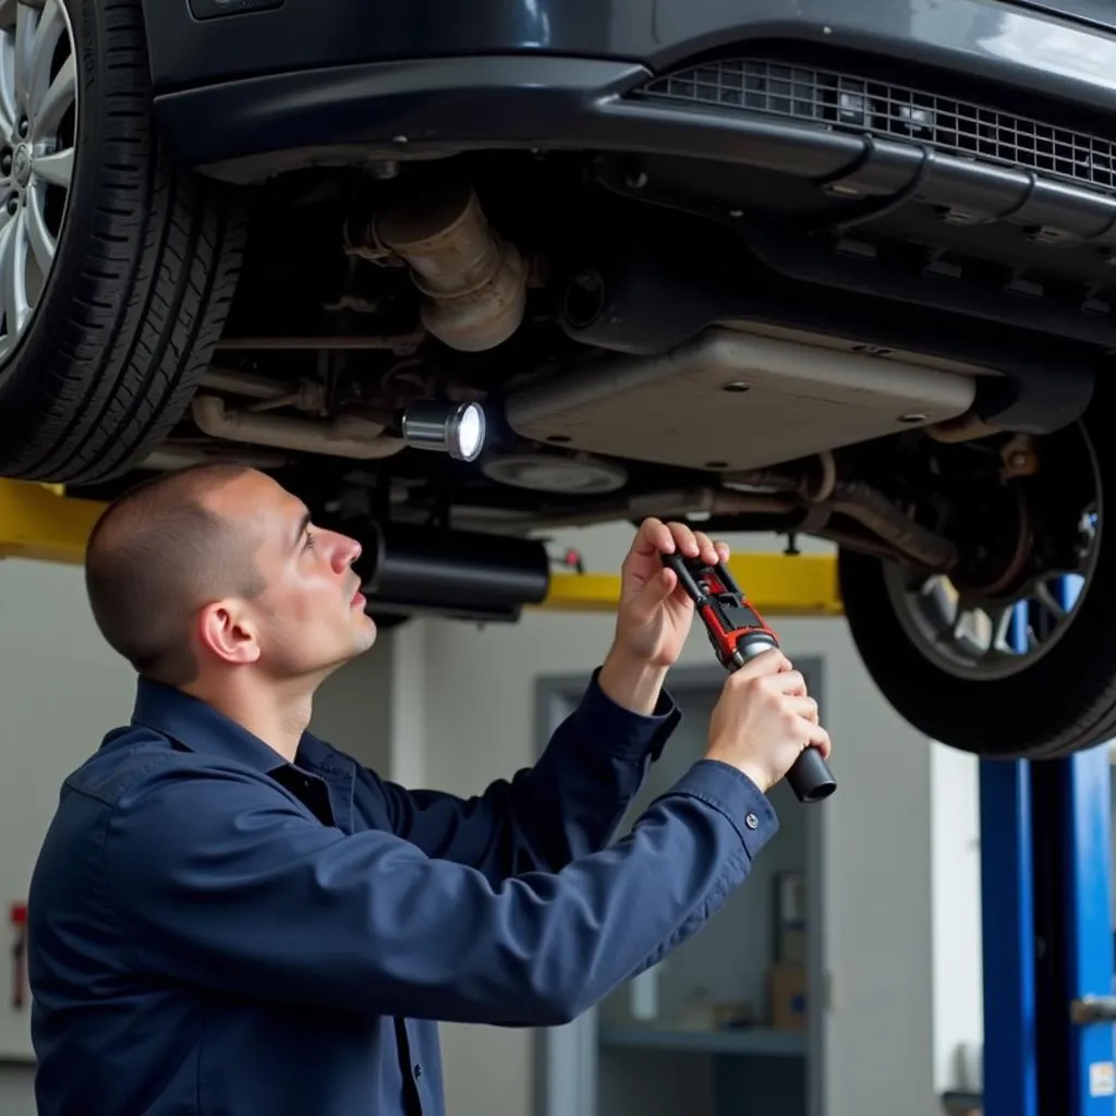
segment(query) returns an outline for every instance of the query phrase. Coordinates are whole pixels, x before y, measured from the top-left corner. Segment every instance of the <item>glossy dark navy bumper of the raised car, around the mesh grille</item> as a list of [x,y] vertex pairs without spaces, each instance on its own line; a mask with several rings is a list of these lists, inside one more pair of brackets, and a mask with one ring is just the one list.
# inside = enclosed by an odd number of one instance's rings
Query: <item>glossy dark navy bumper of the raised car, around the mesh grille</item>
[[[268,7],[243,10],[256,2],[144,0],[164,136],[182,161],[233,180],[354,147],[369,157],[531,145],[739,157],[739,119],[625,95],[710,51],[779,42],[1116,110],[1116,33],[995,0],[827,0],[807,15],[796,0],[260,0]],[[201,3],[209,18],[191,11]],[[835,166],[859,147],[836,138]]]

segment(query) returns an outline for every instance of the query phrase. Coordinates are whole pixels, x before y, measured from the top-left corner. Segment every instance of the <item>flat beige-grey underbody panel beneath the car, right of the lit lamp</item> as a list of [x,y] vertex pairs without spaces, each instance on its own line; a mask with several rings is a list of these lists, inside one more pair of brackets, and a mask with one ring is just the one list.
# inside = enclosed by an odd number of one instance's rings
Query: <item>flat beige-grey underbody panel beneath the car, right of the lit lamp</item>
[[507,407],[523,437],[727,472],[941,423],[974,397],[955,373],[722,328],[512,387]]

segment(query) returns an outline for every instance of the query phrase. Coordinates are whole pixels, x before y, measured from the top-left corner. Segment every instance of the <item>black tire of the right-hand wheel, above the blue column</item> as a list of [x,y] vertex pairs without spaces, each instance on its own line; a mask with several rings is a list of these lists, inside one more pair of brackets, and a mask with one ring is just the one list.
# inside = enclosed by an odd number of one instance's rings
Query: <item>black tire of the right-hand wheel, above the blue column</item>
[[[1089,462],[1091,568],[1045,653],[1014,673],[965,677],[942,668],[897,605],[898,567],[839,552],[840,594],[860,658],[884,699],[932,740],[990,758],[1052,759],[1116,738],[1116,531],[1105,530],[1103,507],[1116,492],[1116,440],[1101,429],[1104,413],[1095,403],[1091,420],[1055,435],[1062,448],[1077,440],[1078,460]],[[1066,499],[1074,508],[1086,502],[1084,485],[1072,492]],[[1027,615],[1033,622],[1046,607]]]

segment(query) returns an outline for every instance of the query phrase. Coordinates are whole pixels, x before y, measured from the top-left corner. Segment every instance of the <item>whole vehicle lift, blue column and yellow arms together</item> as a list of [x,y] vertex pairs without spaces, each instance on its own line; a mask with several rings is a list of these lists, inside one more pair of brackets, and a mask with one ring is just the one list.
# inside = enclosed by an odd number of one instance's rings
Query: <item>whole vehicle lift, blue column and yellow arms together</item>
[[[100,510],[0,479],[0,559],[79,564]],[[737,555],[731,565],[764,614],[843,613],[829,556]],[[1068,607],[1072,587],[1062,591]],[[610,612],[618,596],[614,575],[556,574],[540,607]],[[1113,1116],[1109,779],[1106,745],[1066,760],[980,763],[984,1087],[974,1099],[983,1116]]]

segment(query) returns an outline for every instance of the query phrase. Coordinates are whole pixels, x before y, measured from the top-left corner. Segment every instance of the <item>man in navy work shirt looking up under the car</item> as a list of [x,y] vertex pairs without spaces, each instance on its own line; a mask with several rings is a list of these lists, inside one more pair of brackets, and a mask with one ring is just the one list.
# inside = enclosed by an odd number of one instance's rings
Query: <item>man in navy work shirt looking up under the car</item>
[[247,468],[115,501],[86,578],[137,695],[65,781],[33,873],[40,1116],[440,1116],[437,1021],[566,1022],[698,931],[776,833],[766,791],[830,745],[802,676],[761,655],[728,676],[705,757],[613,843],[679,721],[676,547],[728,557],[644,522],[580,704],[533,768],[460,799],[307,729],[375,638],[355,541]]

